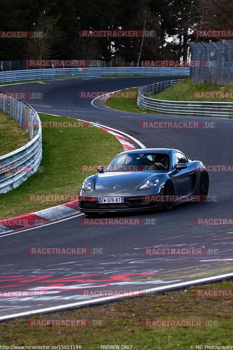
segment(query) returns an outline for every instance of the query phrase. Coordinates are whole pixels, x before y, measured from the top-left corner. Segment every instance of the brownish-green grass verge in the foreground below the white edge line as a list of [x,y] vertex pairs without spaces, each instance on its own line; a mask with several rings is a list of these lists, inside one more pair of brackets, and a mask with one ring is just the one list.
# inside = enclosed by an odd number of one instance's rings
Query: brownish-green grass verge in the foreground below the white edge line
[[[126,289],[126,288],[125,288]],[[232,281],[193,286],[150,297],[134,297],[99,306],[37,314],[0,323],[3,345],[132,345],[136,350],[186,350],[196,345],[226,346],[233,342],[232,297],[197,297],[197,289],[233,289]],[[31,327],[29,320],[97,320],[100,325]],[[217,321],[216,326],[145,327],[144,320]],[[211,323],[209,323],[211,324]],[[71,348],[70,348],[71,349]]]

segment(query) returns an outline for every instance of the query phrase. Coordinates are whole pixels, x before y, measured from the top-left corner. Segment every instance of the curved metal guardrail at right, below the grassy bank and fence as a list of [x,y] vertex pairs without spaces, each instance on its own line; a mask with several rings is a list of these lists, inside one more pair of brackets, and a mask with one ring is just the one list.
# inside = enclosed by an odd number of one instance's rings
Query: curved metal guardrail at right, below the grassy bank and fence
[[[233,102],[193,102],[169,101],[147,97],[161,92],[181,79],[166,80],[163,82],[143,85],[138,90],[137,105],[143,110],[174,114],[188,117],[217,117],[229,119],[233,117]],[[147,95],[147,96],[146,96]]]

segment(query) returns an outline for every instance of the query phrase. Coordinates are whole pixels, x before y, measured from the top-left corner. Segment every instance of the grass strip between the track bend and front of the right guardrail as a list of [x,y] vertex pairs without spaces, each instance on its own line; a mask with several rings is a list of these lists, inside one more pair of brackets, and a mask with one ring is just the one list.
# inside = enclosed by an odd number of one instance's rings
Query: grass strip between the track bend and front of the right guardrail
[[[133,87],[132,89],[126,89],[126,90],[121,90],[122,92],[137,92],[139,87]],[[108,98],[105,102],[105,105],[117,109],[120,111],[126,111],[130,113],[147,113],[147,114],[154,114],[152,111],[144,111],[140,109],[137,105],[137,98],[116,98],[116,97],[111,97]]]

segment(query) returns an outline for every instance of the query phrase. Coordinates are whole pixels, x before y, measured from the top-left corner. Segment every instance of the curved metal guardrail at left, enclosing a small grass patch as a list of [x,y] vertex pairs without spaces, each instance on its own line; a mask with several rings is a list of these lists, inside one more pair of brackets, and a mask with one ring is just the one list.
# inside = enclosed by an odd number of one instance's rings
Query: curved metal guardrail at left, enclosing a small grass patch
[[[36,172],[42,158],[42,127],[36,111],[19,98],[0,92],[0,110],[12,117],[31,139],[27,145],[0,156],[0,193],[19,186]],[[34,122],[36,123],[30,123]],[[36,124],[36,125],[35,125]]]

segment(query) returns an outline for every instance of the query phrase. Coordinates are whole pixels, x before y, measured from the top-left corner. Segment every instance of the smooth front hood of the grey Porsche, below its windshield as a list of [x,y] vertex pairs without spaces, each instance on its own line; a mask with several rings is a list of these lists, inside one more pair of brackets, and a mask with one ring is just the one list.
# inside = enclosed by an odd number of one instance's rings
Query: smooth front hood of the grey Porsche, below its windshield
[[[153,172],[106,172],[96,177],[96,190],[129,190],[136,188],[150,177],[159,176]],[[114,187],[116,187],[114,189]]]

